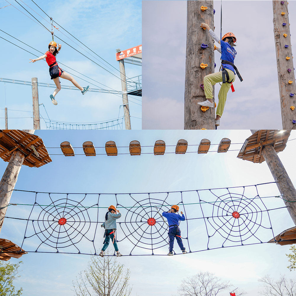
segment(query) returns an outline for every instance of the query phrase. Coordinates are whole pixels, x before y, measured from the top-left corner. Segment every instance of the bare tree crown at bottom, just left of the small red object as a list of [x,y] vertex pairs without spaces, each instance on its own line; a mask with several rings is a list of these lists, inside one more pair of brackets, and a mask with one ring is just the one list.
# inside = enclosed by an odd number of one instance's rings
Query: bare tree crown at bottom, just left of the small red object
[[[221,281],[215,274],[200,271],[194,276],[183,279],[178,292],[180,296],[215,296],[230,287],[233,285],[229,281]],[[236,291],[237,296],[244,294],[246,292]]]

